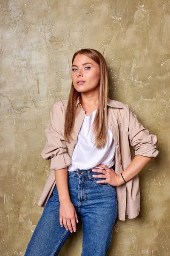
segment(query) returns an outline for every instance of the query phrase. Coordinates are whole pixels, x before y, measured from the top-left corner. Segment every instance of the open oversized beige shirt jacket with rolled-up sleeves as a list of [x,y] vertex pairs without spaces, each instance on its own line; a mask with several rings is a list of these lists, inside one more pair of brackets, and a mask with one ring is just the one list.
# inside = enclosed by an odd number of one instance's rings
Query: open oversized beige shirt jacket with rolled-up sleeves
[[[63,135],[65,110],[68,99],[60,100],[53,106],[51,121],[45,129],[46,145],[41,156],[51,160],[51,172],[45,183],[38,205],[45,207],[56,184],[54,170],[59,170],[70,165],[74,148],[77,144],[77,136],[85,117],[85,110],[77,100],[77,116],[75,119],[73,140],[66,143]],[[136,115],[127,104],[108,98],[108,127],[113,134],[115,142],[115,172],[120,174],[130,165],[135,155],[155,158],[159,155],[156,148],[157,137],[150,134],[138,121]],[[125,221],[135,218],[140,209],[139,177],[136,175],[127,183],[116,187],[118,200],[118,218]]]

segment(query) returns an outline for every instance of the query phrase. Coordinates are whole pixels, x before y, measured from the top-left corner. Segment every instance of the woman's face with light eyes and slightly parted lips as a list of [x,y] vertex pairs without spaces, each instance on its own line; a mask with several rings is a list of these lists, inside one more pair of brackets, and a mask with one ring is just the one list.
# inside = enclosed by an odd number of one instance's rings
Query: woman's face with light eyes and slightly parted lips
[[74,58],[71,69],[71,79],[74,88],[78,92],[93,92],[99,86],[100,67],[91,58],[83,54],[78,54]]

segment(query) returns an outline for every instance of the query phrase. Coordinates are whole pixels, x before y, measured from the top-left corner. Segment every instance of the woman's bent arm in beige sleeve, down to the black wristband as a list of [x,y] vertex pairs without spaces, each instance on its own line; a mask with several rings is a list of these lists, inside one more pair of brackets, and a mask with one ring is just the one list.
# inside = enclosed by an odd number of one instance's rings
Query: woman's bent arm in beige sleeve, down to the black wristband
[[135,149],[135,157],[130,165],[122,172],[122,175],[119,174],[119,186],[139,174],[152,158],[159,155],[159,151],[156,148],[158,142],[156,135],[150,134],[150,132],[143,127],[130,108],[128,137],[130,145]]

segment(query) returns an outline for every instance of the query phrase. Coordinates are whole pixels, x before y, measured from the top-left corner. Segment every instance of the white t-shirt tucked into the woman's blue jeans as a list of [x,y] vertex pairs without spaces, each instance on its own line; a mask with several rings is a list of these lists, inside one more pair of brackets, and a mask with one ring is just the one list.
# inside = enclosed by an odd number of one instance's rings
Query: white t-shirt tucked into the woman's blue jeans
[[[68,172],[74,172],[77,169],[88,170],[102,163],[109,168],[115,163],[115,143],[111,130],[108,128],[108,141],[105,148],[96,148],[94,145],[94,134],[91,140],[91,130],[97,109],[86,116],[80,128],[77,145],[74,148],[71,164],[68,166]],[[92,142],[93,141],[93,142]]]

